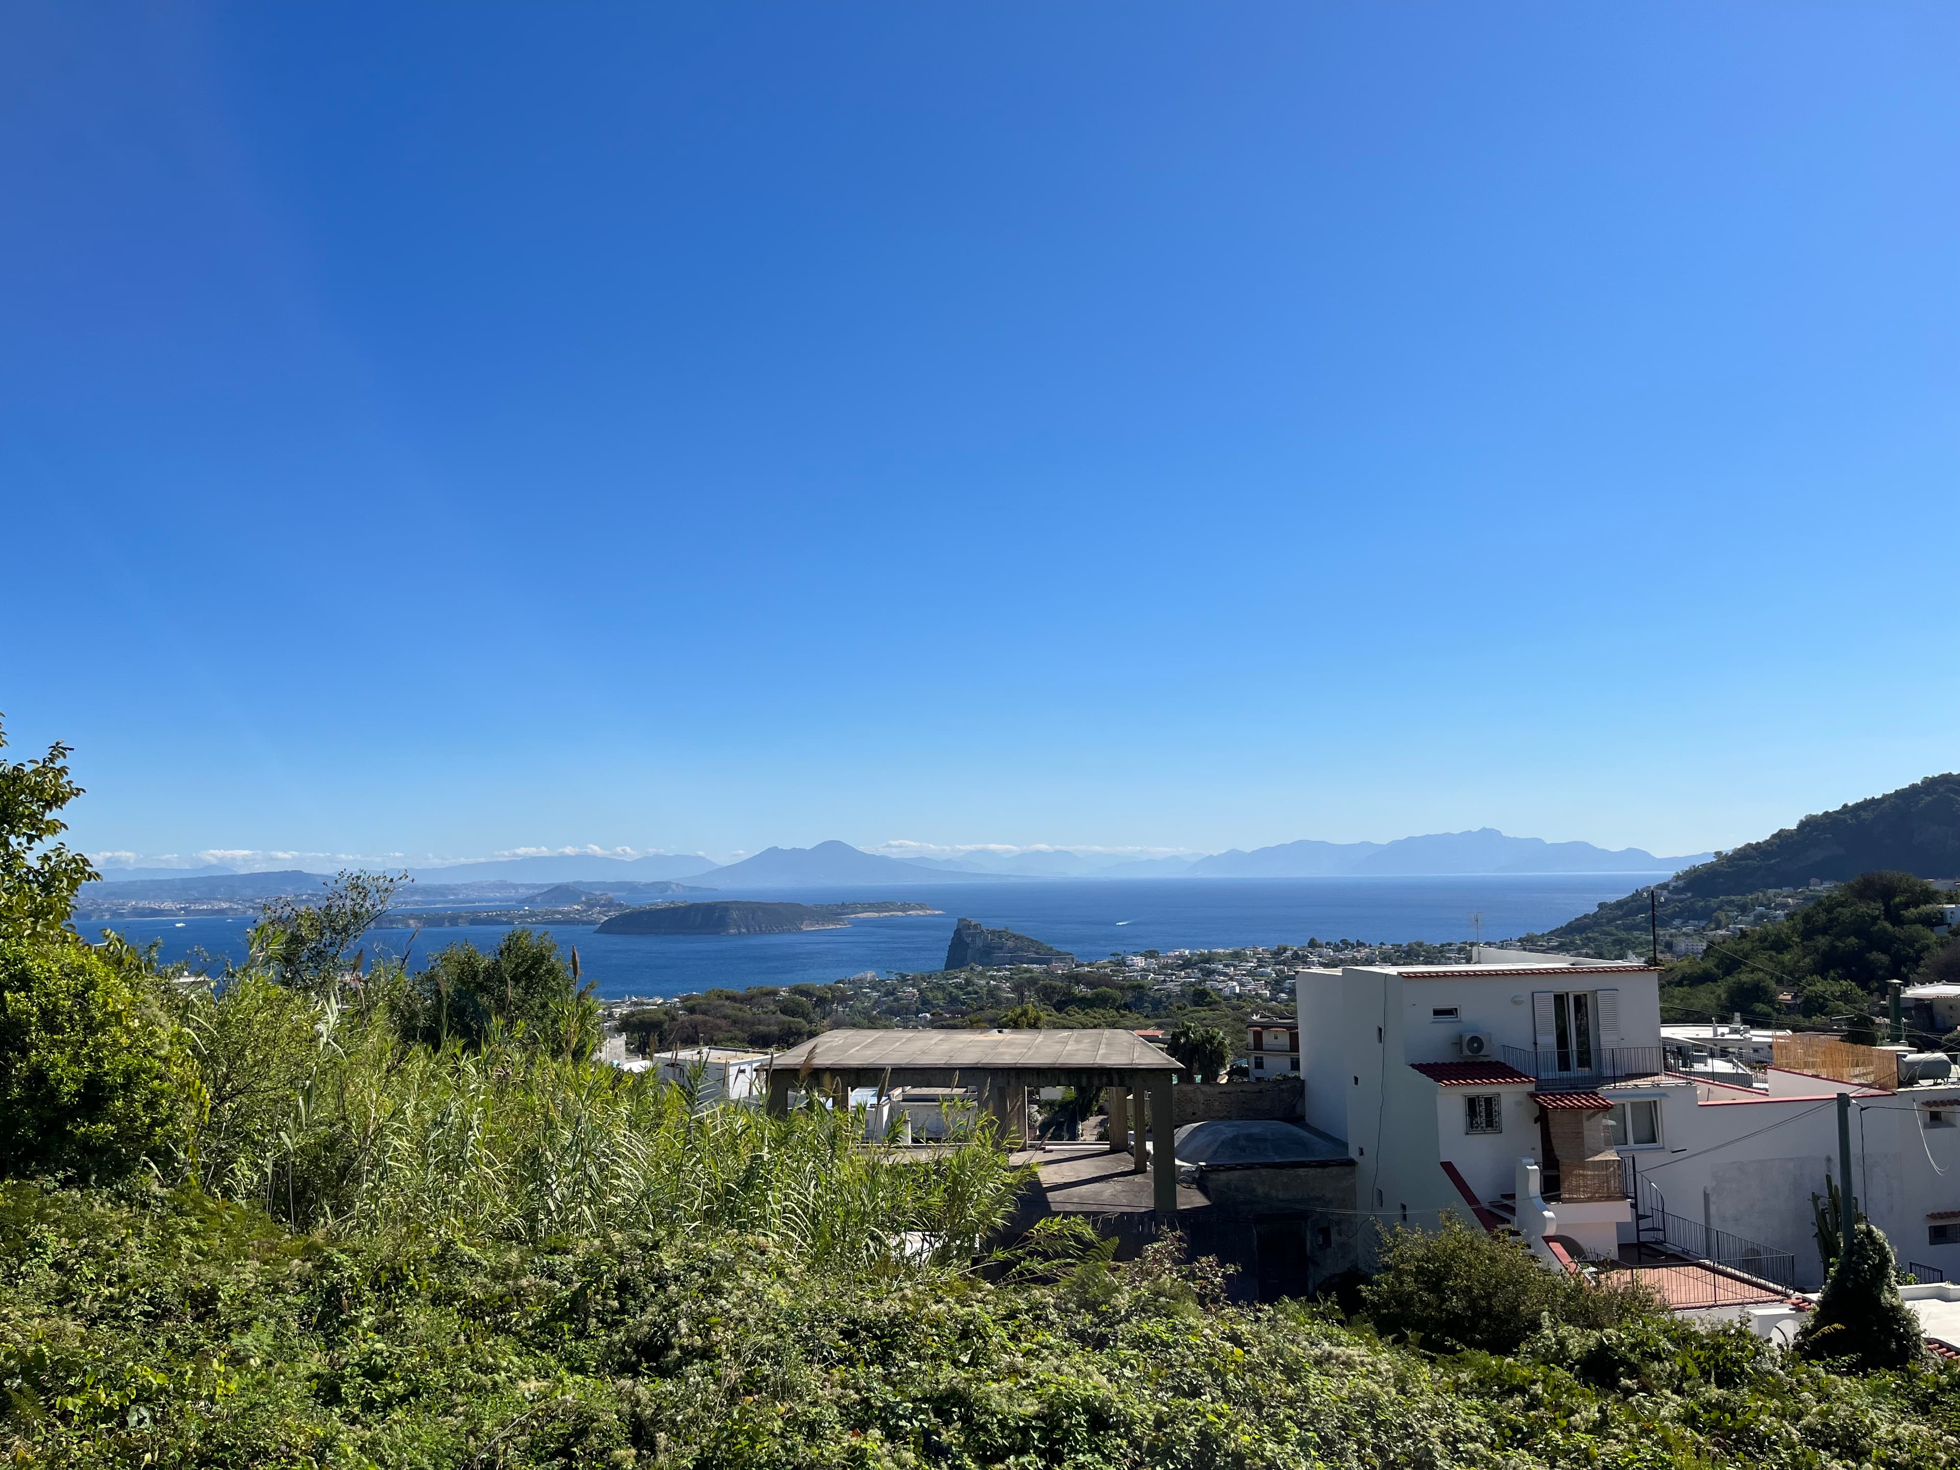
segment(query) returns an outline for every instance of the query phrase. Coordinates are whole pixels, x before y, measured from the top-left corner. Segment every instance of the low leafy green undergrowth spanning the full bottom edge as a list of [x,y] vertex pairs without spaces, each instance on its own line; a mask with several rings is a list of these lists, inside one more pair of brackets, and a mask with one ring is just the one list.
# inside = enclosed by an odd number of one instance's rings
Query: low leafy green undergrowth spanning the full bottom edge
[[[984,1151],[980,1151],[984,1152]],[[1056,1229],[1049,1266],[835,1274],[770,1235],[290,1235],[194,1190],[0,1186],[25,1466],[1282,1470],[1954,1462],[1960,1372],[1737,1331],[1433,1358]],[[1088,1270],[1086,1270],[1088,1266]]]

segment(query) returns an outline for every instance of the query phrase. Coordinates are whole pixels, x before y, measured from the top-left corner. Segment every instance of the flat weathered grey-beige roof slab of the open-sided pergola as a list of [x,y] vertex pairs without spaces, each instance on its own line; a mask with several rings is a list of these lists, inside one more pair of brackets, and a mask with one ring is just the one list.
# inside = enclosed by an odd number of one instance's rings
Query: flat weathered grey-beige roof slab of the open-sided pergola
[[776,1056],[776,1066],[790,1072],[1180,1070],[1135,1031],[825,1031]]

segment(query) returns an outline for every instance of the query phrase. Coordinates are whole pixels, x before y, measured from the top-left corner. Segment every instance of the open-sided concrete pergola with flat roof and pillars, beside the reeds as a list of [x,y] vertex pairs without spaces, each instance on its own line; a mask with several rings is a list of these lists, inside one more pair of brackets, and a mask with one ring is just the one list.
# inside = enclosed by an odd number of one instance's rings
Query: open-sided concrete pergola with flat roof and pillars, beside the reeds
[[[1129,1031],[825,1031],[770,1064],[768,1111],[790,1111],[792,1092],[849,1094],[851,1088],[976,1088],[1007,1135],[1027,1117],[1027,1088],[1090,1088],[1107,1094],[1109,1152],[1123,1152],[1135,1117],[1135,1166],[1151,1166],[1156,1213],[1178,1213],[1178,1145],[1170,1078],[1178,1064]],[[1015,1107],[1013,1103],[1019,1103]],[[1154,1158],[1145,1147],[1145,1119]]]

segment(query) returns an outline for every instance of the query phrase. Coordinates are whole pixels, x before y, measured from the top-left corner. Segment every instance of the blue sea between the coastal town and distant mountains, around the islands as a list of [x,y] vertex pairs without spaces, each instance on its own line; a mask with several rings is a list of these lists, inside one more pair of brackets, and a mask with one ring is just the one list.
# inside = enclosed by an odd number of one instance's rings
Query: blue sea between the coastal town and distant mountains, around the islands
[[[1550,929],[1625,898],[1664,874],[1546,874],[1503,878],[1135,878],[921,884],[755,892],[802,904],[890,898],[931,904],[943,913],[900,919],[853,919],[849,929],[794,935],[600,935],[592,925],[543,925],[561,947],[576,947],[586,980],[600,996],[680,996],[725,986],[829,982],[864,970],[937,970],[945,964],[953,921],[980,919],[1043,939],[1076,958],[1117,951],[1233,949],[1301,945],[1307,939],[1431,943],[1470,939],[1482,915],[1486,939]],[[163,939],[163,958],[196,949],[245,956],[251,919],[131,919],[118,925],[131,941]],[[94,937],[100,925],[78,925]],[[376,929],[368,956],[410,955],[468,941],[496,947],[502,927]],[[412,945],[414,941],[414,945]]]

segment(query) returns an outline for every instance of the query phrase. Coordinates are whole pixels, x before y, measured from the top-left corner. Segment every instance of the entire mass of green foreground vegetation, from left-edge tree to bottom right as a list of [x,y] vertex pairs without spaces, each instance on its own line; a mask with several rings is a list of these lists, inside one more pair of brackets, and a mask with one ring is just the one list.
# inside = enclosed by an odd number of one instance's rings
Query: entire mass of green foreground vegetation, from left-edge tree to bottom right
[[0,1076],[53,1100],[10,1111],[0,1180],[10,1464],[1956,1460],[1960,1368],[1833,1372],[1464,1227],[1396,1233],[1352,1319],[1229,1305],[1176,1235],[990,1250],[1021,1188],[994,1149],[900,1156],[849,1113],[596,1066],[537,937],[363,966],[376,884],[159,974],[49,923],[63,782],[0,766],[29,790],[0,804],[0,886],[29,890],[0,892]]

